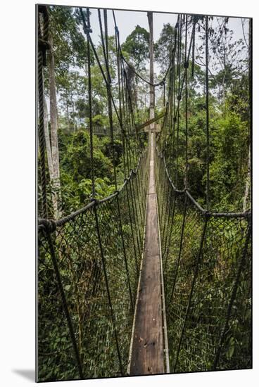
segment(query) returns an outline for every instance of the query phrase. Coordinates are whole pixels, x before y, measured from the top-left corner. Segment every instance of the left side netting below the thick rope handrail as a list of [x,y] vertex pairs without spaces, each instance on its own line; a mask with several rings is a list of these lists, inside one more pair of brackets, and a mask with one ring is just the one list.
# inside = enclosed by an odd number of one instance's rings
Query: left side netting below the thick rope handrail
[[[145,152],[137,170],[110,198],[93,201],[57,222],[39,221],[39,379],[126,373],[147,172]],[[49,362],[42,369],[46,357]],[[60,366],[53,369],[52,364]]]

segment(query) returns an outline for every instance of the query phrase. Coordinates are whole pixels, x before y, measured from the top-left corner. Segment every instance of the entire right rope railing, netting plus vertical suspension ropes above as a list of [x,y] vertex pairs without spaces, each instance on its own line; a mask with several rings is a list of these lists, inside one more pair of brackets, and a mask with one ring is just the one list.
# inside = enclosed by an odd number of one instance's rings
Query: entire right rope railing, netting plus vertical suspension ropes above
[[178,16],[156,147],[170,372],[251,368],[251,212],[210,210],[208,16],[203,17],[206,209],[189,188],[189,56],[197,22]]

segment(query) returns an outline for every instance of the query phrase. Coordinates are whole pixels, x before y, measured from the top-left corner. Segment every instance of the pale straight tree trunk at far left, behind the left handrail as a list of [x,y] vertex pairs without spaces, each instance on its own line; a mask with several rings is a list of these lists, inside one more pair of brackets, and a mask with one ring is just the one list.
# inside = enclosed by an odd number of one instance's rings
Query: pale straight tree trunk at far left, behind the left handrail
[[50,35],[50,56],[49,56],[49,99],[50,99],[50,118],[51,118],[51,155],[53,165],[53,191],[58,196],[58,205],[55,218],[61,216],[61,182],[59,172],[58,156],[58,122],[57,122],[57,101],[56,101],[56,80],[55,80],[55,60],[53,55],[53,39]]

